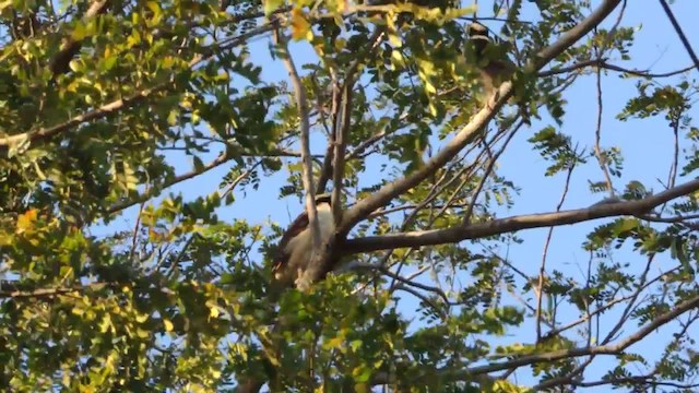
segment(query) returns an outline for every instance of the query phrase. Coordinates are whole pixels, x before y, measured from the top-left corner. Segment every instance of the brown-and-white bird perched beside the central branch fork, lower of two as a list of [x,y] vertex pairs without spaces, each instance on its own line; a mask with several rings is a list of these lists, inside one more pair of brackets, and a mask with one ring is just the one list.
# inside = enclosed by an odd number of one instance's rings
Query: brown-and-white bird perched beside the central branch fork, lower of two
[[[320,228],[320,243],[328,242],[335,233],[335,221],[332,215],[330,194],[316,195],[316,212]],[[313,254],[313,239],[308,222],[308,212],[304,210],[294,219],[280,240],[272,273],[280,282],[294,283],[298,279]]]

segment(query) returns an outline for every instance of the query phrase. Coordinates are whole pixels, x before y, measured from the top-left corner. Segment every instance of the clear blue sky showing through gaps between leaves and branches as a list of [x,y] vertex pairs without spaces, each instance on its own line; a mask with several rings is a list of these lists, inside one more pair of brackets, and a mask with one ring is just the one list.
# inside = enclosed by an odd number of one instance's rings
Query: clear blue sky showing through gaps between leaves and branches
[[[483,7],[483,2],[481,3],[482,10],[489,9],[488,7]],[[592,3],[594,5],[599,1],[593,1]],[[672,5],[672,9],[695,49],[699,50],[699,27],[696,23],[699,3],[695,0],[679,0]],[[482,16],[486,14],[487,12],[485,11],[479,13]],[[523,16],[526,19],[526,14]],[[631,49],[632,60],[623,62],[620,59],[611,59],[612,63],[632,69],[650,69],[653,72],[674,71],[690,64],[689,57],[657,1],[629,1],[623,25],[640,27],[637,35],[637,44]],[[608,23],[606,26],[608,26]],[[266,38],[256,43],[252,49],[252,61],[257,64],[264,64],[262,71],[263,80],[286,79],[286,72],[281,62],[271,59],[268,52],[268,43]],[[304,62],[316,61],[312,51],[306,44],[294,45],[292,55],[295,57],[298,67]],[[689,76],[696,78],[696,74],[697,71],[694,71]],[[665,81],[670,83],[671,80],[663,80],[663,82]],[[662,190],[662,186],[655,179],[664,180],[667,178],[673,143],[670,128],[662,118],[642,121],[630,120],[627,122],[615,119],[625,103],[636,95],[633,81],[620,80],[615,72],[607,73],[603,80],[603,92],[602,145],[603,147],[620,147],[625,157],[624,175],[620,179],[614,179],[615,187],[620,191],[628,181],[637,179],[655,191]],[[567,91],[565,98],[569,102],[569,105],[567,106],[567,115],[560,131],[571,135],[573,141],[579,142],[580,145],[592,146],[597,110],[594,76],[580,79]],[[696,115],[696,110],[690,115]],[[522,191],[516,198],[514,206],[509,211],[500,211],[499,216],[549,212],[556,209],[556,204],[560,199],[565,175],[556,175],[553,178],[544,177],[543,174],[548,164],[526,142],[526,139],[534,132],[549,123],[546,120],[532,124],[529,130],[522,130],[500,159],[499,175],[516,181]],[[324,144],[319,142],[316,141],[313,143],[312,150],[313,153],[322,154]],[[191,163],[181,157],[175,158],[174,162],[182,172],[191,168]],[[229,168],[228,166],[220,167],[178,184],[168,191],[182,192],[188,199],[211,193],[216,190],[221,179]],[[379,180],[382,175],[365,174],[365,176],[367,181],[371,181]],[[238,191],[236,193],[236,202],[222,209],[220,217],[225,221],[246,218],[252,223],[264,223],[272,218],[282,225],[288,224],[293,218],[289,215],[295,215],[300,210],[300,204],[294,198],[281,201],[277,199],[279,187],[285,177],[285,174],[279,174],[272,178],[266,178],[262,181],[258,191],[246,190],[245,195]],[[576,170],[564,209],[584,207],[600,201],[604,195],[591,193],[588,180],[600,181],[602,179],[599,166],[592,160]],[[135,207],[131,209],[129,214],[126,214],[115,223],[115,226],[132,227],[134,212]],[[582,250],[581,243],[584,241],[587,233],[595,224],[599,225],[601,223],[593,222],[557,228],[554,231],[553,241],[548,250],[548,266],[571,274],[573,277],[584,282],[584,276],[579,272],[580,269],[585,267],[589,254]],[[110,228],[112,227],[110,226]],[[546,234],[547,229],[518,234],[525,240],[524,243],[512,246],[509,250],[512,263],[518,269],[531,275],[536,274]],[[638,265],[639,269],[644,263],[641,257],[624,252],[624,250],[616,253],[615,258],[619,261],[628,261],[632,265]],[[662,255],[659,262],[659,265],[671,265],[667,255]],[[414,299],[406,300],[402,305],[402,310],[410,314],[417,303]],[[569,312],[564,317],[569,317],[566,319],[572,320],[578,315]],[[627,326],[624,333],[628,334],[633,327],[636,326]],[[533,325],[524,325],[522,329],[512,332],[512,335],[502,337],[498,342],[532,342],[535,337],[533,332]],[[668,329],[661,330],[656,336],[657,340],[641,342],[632,349],[640,350],[642,348],[644,354],[657,353],[662,349],[661,344],[670,340],[670,332],[671,330]],[[589,376],[601,376],[606,371],[605,364],[604,360],[597,360],[590,369]],[[530,379],[525,378],[524,373],[518,373],[518,378],[522,383],[531,382]]]

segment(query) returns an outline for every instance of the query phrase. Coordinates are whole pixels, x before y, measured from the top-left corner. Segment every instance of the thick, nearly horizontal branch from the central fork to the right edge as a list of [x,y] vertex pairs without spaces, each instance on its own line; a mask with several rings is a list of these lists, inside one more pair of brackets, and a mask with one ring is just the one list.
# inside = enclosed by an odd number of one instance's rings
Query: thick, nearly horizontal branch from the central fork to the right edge
[[410,248],[453,243],[466,239],[505,234],[521,229],[570,225],[597,218],[620,215],[641,215],[667,201],[699,190],[699,180],[691,180],[655,195],[637,201],[595,204],[588,209],[541,213],[494,219],[487,223],[457,226],[447,229],[411,231],[404,234],[370,236],[351,239],[342,248],[343,253],[358,253],[394,248]]

